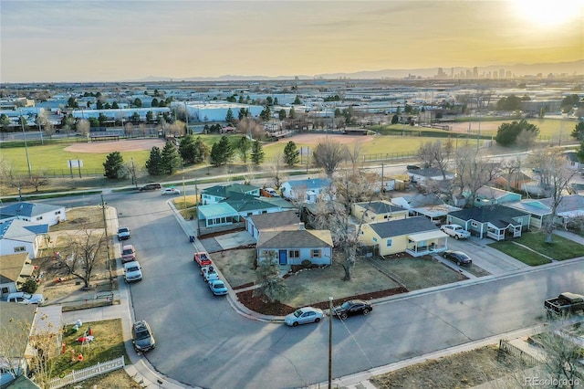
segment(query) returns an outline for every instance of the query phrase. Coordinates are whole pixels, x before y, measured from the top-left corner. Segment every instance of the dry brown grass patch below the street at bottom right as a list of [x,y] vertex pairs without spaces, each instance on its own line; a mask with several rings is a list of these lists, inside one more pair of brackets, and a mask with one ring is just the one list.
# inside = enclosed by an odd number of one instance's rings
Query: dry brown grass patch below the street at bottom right
[[370,382],[384,389],[471,388],[511,373],[509,366],[497,361],[497,354],[497,346],[486,346],[377,375]]

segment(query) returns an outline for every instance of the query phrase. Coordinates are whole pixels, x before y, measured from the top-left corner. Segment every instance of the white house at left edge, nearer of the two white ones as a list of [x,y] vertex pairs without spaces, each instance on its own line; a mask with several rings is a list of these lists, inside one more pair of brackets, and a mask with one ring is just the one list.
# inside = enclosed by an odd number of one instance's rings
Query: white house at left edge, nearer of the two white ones
[[36,258],[38,247],[48,234],[48,225],[12,219],[0,224],[0,256],[27,252]]

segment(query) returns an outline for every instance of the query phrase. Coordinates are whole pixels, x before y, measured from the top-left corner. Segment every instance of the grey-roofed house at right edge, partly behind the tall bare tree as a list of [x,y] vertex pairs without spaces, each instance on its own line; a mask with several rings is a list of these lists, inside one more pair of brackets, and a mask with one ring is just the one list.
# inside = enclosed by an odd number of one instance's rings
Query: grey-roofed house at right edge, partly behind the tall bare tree
[[[545,225],[547,218],[551,216],[552,198],[524,199],[516,203],[509,203],[506,206],[526,212],[529,218],[530,228],[541,228]],[[570,219],[584,216],[584,195],[565,195],[562,197],[556,210],[555,223],[560,226],[567,226]]]

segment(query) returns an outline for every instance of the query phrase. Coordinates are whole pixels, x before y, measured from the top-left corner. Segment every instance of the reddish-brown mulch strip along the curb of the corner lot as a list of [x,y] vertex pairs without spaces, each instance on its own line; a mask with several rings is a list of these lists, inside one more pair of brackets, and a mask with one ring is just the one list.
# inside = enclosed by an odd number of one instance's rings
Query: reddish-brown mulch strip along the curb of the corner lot
[[[399,287],[393,289],[385,289],[370,293],[364,293],[357,296],[350,296],[344,299],[336,300],[335,304],[342,304],[347,300],[360,299],[360,300],[375,300],[381,299],[383,297],[393,296],[396,294],[406,293],[408,289]],[[237,293],[237,299],[247,307],[249,310],[253,310],[257,313],[270,316],[286,316],[288,313],[292,313],[299,307],[290,307],[289,305],[282,304],[278,301],[276,302],[264,302],[259,297],[254,297],[254,290],[245,290]],[[328,301],[318,302],[317,304],[312,304],[313,307],[320,308],[321,310],[328,310]]]

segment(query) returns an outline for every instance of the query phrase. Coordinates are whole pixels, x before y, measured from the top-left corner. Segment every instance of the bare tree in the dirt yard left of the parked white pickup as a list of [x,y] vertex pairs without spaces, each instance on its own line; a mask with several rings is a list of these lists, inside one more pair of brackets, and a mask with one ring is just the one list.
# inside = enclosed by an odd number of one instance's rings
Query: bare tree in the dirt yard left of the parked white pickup
[[93,268],[106,256],[102,249],[105,243],[103,229],[83,226],[77,236],[71,237],[70,244],[64,250],[65,258],[61,259],[63,265],[70,274],[83,280],[84,288],[89,288]]

